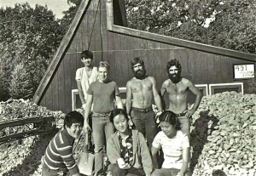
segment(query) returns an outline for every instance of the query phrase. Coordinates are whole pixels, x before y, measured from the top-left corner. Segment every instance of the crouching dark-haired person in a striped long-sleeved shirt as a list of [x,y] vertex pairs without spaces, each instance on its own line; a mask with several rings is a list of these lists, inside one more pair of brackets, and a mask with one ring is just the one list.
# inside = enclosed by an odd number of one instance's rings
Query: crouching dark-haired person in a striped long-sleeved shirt
[[43,176],[64,175],[80,176],[79,167],[73,158],[73,143],[84,126],[84,116],[78,111],[69,112],[64,119],[64,129],[50,140],[44,154]]

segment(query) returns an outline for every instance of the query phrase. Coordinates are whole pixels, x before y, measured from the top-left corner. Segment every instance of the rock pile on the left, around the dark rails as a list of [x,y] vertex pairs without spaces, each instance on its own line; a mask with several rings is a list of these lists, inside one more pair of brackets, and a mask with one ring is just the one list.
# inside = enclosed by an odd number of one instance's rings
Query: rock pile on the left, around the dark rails
[[[58,122],[65,114],[61,111],[49,111],[46,107],[24,99],[0,102],[0,122],[29,116],[55,116],[58,127]],[[0,131],[0,136],[18,133],[25,128],[30,127],[4,128]],[[41,158],[52,137],[37,135],[0,145],[0,175],[41,175]]]

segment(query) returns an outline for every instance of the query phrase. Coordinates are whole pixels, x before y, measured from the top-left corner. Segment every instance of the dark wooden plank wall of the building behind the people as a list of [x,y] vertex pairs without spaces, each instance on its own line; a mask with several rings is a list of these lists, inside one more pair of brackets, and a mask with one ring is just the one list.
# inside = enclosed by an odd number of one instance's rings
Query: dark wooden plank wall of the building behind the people
[[[40,105],[55,111],[72,110],[71,91],[77,88],[75,72],[83,66],[79,54],[88,48],[95,56],[93,65],[97,65],[101,60],[109,62],[110,77],[118,82],[119,87],[125,87],[132,77],[130,60],[133,57],[141,57],[144,60],[148,75],[156,78],[158,88],[167,79],[166,62],[173,58],[180,60],[183,77],[191,79],[195,84],[236,82],[233,80],[232,65],[251,63],[250,60],[176,46],[155,41],[150,37],[134,37],[108,31],[106,1],[99,2],[101,3],[92,0],[84,13],[67,53],[40,100]],[[246,80],[243,82],[247,85]]]

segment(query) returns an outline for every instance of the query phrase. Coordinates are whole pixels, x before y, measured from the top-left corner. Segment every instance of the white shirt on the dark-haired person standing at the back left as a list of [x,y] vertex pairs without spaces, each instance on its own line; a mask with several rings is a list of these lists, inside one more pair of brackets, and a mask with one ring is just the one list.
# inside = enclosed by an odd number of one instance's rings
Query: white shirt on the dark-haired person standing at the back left
[[90,86],[90,83],[95,82],[96,79],[97,79],[97,67],[92,68],[90,77],[87,76],[85,67],[79,68],[76,71],[76,80],[81,81],[85,101],[87,99],[87,90]]

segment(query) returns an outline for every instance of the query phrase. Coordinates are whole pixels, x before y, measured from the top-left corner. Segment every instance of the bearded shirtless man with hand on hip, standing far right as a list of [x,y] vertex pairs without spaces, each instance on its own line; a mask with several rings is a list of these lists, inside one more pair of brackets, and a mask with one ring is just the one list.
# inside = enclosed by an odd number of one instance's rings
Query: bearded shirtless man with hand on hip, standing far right
[[[201,102],[201,92],[195,87],[195,84],[189,79],[181,77],[182,67],[178,60],[170,60],[167,62],[166,71],[170,79],[163,82],[160,88],[161,97],[168,94],[170,100],[169,107],[166,110],[173,111],[177,114],[180,128],[183,133],[187,133],[190,139],[190,121],[189,118],[195,113]],[[189,90],[195,94],[195,104],[191,110],[188,109],[188,93]]]

